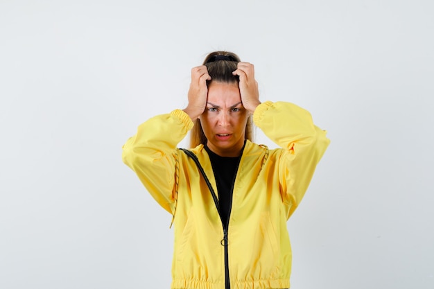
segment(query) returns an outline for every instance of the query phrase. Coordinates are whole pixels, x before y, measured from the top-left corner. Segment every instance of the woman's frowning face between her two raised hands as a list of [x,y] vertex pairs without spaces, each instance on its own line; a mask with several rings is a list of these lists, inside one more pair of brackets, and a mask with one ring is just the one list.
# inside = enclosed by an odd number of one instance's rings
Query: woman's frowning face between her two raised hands
[[200,116],[208,148],[221,157],[238,157],[244,145],[248,116],[238,83],[210,82],[207,107]]

